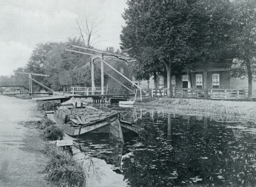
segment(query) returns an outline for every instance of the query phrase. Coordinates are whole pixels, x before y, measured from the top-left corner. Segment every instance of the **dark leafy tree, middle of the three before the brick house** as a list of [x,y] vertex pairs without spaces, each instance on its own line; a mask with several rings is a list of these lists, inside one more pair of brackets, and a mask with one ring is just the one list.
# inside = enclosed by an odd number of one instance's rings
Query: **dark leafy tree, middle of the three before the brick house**
[[[200,65],[204,69],[205,97],[208,97],[207,69],[213,64],[231,64],[233,47],[232,4],[229,0],[197,0],[192,4],[190,19],[193,35],[190,46],[194,49],[194,60],[190,66]],[[193,59],[190,58],[190,59]]]

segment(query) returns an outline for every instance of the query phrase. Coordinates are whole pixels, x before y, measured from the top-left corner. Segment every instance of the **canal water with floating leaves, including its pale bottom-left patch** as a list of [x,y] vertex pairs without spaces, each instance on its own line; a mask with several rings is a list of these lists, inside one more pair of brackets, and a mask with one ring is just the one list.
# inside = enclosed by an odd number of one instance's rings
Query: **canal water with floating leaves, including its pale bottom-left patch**
[[[139,136],[125,143],[86,134],[73,154],[87,165],[90,187],[256,187],[256,126],[252,122],[119,108]],[[216,122],[216,121],[222,122]]]

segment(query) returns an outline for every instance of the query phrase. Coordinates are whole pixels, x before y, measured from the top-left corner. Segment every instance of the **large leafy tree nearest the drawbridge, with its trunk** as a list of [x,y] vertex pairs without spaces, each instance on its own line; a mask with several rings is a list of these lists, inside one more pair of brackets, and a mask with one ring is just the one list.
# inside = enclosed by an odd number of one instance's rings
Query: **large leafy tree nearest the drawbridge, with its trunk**
[[120,36],[121,49],[139,58],[142,67],[148,64],[141,52],[154,51],[158,62],[154,60],[151,65],[165,68],[168,96],[171,97],[171,68],[183,63],[190,52],[187,45],[192,34],[189,3],[187,0],[128,0],[127,5],[123,14],[126,26]]

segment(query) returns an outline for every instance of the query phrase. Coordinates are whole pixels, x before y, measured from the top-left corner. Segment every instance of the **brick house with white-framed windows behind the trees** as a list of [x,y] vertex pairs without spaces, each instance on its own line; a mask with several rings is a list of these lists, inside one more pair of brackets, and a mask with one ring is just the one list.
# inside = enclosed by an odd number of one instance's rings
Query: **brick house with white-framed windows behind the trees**
[[[182,89],[205,89],[204,88],[204,69],[197,67],[189,71],[172,72],[172,88]],[[152,76],[149,80],[139,81],[139,86],[143,89],[162,89],[167,88],[166,72],[157,73],[156,78]],[[253,81],[253,90],[256,90],[256,82]],[[248,79],[231,77],[230,67],[225,64],[212,64],[207,68],[207,88],[208,89],[248,89]]]

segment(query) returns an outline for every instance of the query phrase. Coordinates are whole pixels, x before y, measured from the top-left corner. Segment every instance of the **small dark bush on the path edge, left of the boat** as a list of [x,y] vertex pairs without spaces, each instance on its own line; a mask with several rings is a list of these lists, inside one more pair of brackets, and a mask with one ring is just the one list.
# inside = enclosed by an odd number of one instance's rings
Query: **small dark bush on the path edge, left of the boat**
[[64,137],[64,132],[59,126],[51,124],[43,129],[43,135],[48,140],[61,140]]

